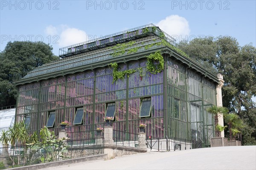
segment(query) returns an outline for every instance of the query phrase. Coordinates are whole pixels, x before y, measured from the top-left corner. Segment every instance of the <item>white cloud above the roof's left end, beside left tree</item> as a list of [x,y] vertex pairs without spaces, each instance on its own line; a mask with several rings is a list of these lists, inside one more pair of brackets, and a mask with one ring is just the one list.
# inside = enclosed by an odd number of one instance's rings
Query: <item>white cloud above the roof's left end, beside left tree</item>
[[[76,43],[87,41],[87,34],[83,30],[70,28],[67,25],[52,26],[49,25],[44,30],[45,34],[58,36],[58,46],[65,47]],[[56,39],[55,39],[56,40]]]

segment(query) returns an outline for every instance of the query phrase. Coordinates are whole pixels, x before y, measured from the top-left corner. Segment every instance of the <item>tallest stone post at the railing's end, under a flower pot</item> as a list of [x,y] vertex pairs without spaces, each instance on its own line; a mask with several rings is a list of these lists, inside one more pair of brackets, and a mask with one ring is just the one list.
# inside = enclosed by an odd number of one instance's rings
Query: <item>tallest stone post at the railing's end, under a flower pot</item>
[[104,153],[108,154],[108,158],[111,158],[114,155],[113,148],[108,147],[113,145],[114,145],[113,127],[105,126],[104,127],[104,146],[105,146]]

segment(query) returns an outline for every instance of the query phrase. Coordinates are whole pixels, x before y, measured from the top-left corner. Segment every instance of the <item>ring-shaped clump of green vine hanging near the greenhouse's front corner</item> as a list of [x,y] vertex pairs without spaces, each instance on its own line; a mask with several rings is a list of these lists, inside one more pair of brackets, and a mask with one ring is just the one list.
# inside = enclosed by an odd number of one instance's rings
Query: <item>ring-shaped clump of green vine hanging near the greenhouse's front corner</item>
[[148,72],[151,74],[157,74],[163,71],[164,60],[160,51],[154,52],[148,55],[148,61],[146,64]]

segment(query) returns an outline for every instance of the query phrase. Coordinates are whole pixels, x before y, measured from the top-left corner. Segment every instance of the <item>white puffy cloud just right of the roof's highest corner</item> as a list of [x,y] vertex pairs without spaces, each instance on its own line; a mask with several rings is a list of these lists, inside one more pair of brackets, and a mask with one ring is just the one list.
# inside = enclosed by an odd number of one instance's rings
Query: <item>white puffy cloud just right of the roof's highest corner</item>
[[179,15],[170,15],[155,25],[171,36],[186,37],[190,33],[189,22]]

